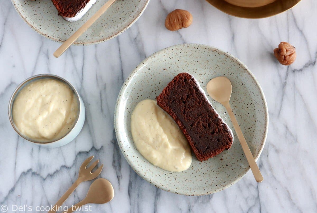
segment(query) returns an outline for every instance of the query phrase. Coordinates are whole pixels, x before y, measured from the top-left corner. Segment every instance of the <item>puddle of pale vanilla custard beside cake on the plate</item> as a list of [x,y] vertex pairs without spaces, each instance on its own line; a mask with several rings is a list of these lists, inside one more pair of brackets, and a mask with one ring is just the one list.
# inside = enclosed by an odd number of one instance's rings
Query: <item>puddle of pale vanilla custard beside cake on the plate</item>
[[191,148],[183,132],[156,101],[137,104],[131,116],[131,133],[139,152],[153,165],[171,172],[191,166]]

